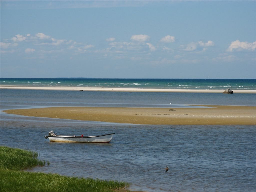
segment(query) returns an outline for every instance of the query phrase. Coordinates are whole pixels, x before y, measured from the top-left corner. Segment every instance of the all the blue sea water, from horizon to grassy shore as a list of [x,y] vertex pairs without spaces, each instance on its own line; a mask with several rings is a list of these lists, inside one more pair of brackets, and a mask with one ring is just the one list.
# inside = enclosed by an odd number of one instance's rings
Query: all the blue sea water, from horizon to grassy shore
[[[1,78],[0,85],[255,90],[256,80]],[[39,159],[50,162],[26,171],[126,181],[131,190],[256,191],[256,127],[252,125],[139,125],[3,112],[54,106],[172,109],[190,104],[256,106],[256,94],[1,89],[0,145],[36,151]],[[109,144],[57,143],[44,138],[51,130],[115,135]]]

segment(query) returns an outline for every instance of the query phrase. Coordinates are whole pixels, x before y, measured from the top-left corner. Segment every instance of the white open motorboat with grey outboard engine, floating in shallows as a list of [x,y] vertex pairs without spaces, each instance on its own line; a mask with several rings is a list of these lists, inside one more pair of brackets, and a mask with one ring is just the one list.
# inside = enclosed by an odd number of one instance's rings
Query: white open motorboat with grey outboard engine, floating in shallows
[[50,131],[45,138],[49,138],[53,142],[80,142],[80,143],[110,143],[115,133],[98,135],[98,136],[76,136],[76,135],[56,135],[54,131]]

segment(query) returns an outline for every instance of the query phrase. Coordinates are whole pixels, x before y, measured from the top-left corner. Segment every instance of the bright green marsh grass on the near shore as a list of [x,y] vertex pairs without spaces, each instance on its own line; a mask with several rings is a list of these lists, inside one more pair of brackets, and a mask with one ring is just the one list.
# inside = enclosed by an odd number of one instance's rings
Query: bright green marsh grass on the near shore
[[22,170],[45,165],[45,161],[40,161],[37,157],[36,152],[0,146],[0,191],[112,192],[129,186],[127,182],[114,180],[68,177]]

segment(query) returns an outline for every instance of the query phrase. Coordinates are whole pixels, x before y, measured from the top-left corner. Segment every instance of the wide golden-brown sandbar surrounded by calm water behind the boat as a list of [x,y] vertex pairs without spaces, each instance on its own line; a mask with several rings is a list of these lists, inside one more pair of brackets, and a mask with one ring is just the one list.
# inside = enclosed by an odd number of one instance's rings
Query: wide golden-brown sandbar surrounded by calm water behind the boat
[[[198,105],[199,106],[199,105]],[[118,107],[50,107],[13,109],[6,113],[151,125],[256,125],[256,106],[200,105],[212,108],[118,108]]]

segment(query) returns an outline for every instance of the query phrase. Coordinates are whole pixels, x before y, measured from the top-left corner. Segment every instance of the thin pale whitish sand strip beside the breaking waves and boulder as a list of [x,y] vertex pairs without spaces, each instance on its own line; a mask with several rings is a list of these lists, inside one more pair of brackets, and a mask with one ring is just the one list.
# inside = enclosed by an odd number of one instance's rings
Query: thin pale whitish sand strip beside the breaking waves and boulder
[[[148,88],[108,88],[108,87],[28,87],[28,86],[0,86],[0,89],[33,89],[33,90],[61,90],[61,91],[123,91],[123,92],[179,92],[179,93],[223,93],[223,89],[148,89]],[[232,89],[232,88],[231,88]],[[233,93],[254,93],[256,90],[233,90]]]

